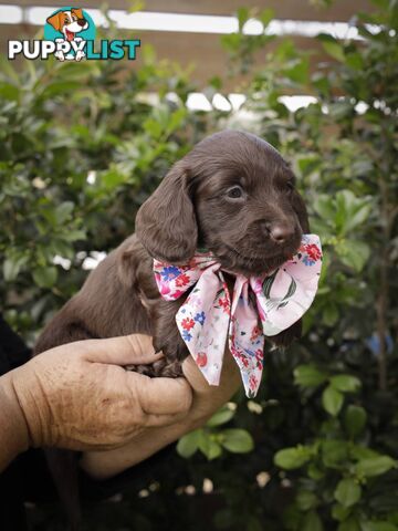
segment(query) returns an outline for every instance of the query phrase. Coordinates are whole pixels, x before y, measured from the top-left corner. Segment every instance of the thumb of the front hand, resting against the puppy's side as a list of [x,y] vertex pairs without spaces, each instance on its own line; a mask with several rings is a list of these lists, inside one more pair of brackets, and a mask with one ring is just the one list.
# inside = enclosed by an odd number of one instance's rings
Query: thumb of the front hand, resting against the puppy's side
[[90,340],[76,342],[76,351],[83,352],[83,357],[93,363],[109,363],[114,365],[149,364],[163,357],[155,353],[150,335],[130,334],[106,340]]

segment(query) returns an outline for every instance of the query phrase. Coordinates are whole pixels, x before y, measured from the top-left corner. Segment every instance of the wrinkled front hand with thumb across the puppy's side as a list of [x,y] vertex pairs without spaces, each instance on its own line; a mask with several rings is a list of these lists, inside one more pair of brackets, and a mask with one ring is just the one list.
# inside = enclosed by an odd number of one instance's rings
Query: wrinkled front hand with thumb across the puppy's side
[[20,450],[112,449],[145,428],[184,418],[192,399],[185,378],[151,379],[119,366],[159,357],[149,336],[135,334],[62,345],[11,371],[0,382],[12,416],[21,419]]

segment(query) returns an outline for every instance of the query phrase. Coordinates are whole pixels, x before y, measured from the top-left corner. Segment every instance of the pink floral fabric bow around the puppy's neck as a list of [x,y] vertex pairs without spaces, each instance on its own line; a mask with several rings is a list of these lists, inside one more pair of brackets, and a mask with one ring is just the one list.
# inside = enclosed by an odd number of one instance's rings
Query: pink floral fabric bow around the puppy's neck
[[198,252],[186,266],[154,260],[154,273],[167,301],[180,298],[193,287],[176,321],[208,383],[219,385],[228,337],[247,396],[254,397],[263,368],[264,336],[289,329],[311,306],[321,263],[320,238],[304,235],[296,254],[271,274],[250,278],[235,274],[232,301],[221,266],[211,252]]

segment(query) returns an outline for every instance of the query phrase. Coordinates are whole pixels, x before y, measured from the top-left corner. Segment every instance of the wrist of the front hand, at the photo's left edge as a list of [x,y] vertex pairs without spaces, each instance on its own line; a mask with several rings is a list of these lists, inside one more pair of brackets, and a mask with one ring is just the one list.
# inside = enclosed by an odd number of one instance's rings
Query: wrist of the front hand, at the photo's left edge
[[13,385],[15,371],[0,378],[0,470],[25,451],[30,442],[27,419]]

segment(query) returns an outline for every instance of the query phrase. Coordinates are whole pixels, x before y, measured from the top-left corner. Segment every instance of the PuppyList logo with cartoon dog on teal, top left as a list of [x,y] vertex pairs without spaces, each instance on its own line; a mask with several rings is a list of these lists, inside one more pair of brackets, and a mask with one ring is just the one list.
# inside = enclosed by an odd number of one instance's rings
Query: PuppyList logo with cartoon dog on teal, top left
[[140,40],[102,40],[95,48],[95,24],[87,11],[80,8],[62,8],[45,21],[43,40],[9,41],[8,59],[18,55],[25,59],[46,60],[54,55],[59,61],[82,59],[136,59]]

